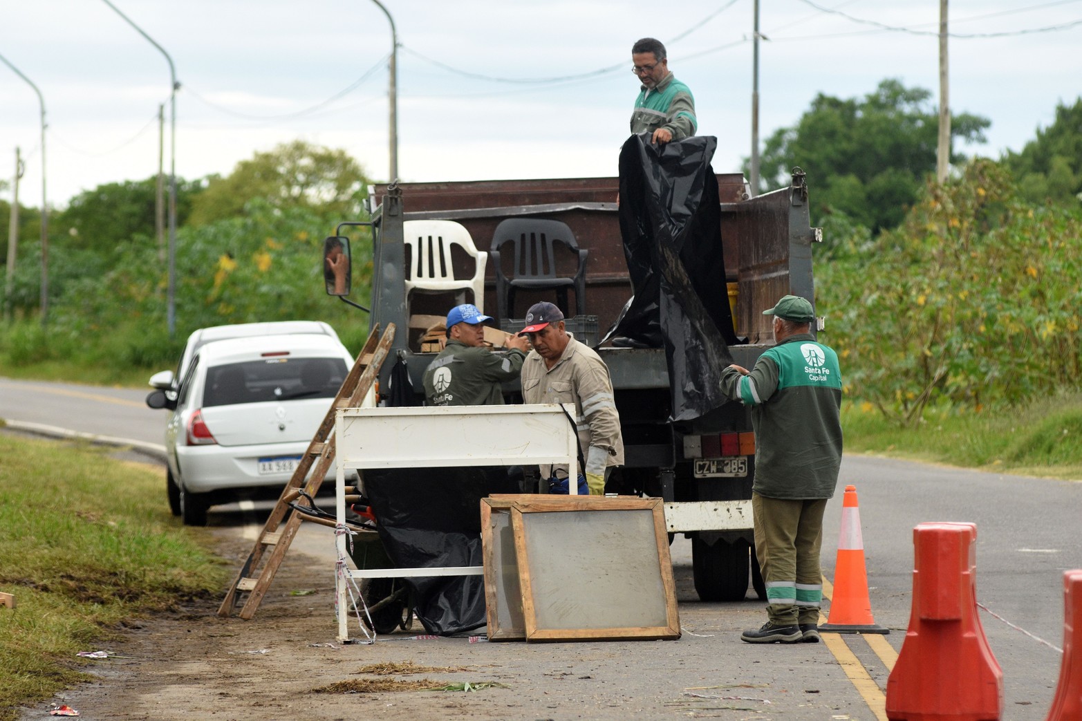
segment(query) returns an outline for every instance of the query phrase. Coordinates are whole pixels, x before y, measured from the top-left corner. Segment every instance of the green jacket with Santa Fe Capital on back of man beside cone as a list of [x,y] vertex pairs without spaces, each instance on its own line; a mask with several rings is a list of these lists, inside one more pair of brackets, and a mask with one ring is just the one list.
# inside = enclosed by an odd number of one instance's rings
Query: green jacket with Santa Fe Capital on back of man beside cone
[[842,371],[810,333],[763,353],[751,373],[722,371],[721,389],[751,406],[755,483],[768,498],[830,498],[842,462]]

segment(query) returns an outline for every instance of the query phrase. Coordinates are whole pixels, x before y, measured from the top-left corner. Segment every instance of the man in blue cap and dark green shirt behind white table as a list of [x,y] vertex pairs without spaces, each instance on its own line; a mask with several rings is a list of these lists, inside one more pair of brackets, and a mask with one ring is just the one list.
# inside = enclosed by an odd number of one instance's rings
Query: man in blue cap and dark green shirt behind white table
[[485,323],[473,303],[456,305],[447,314],[447,345],[424,371],[424,395],[430,406],[502,405],[504,381],[518,378],[529,348],[518,336],[507,336],[506,355],[485,348]]

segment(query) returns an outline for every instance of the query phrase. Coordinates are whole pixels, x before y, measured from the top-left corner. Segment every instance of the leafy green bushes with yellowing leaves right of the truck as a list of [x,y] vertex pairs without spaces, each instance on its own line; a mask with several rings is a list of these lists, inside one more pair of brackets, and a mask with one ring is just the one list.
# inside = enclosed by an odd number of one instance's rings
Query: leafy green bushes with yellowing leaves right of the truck
[[979,160],[896,230],[850,228],[816,265],[845,391],[887,417],[981,411],[1082,385],[1082,212]]

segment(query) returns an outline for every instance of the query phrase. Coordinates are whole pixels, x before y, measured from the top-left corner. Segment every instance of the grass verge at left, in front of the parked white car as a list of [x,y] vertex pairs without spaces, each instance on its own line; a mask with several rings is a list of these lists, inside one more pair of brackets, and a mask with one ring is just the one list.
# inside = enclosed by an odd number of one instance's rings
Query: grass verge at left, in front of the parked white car
[[80,651],[132,618],[217,593],[209,536],[162,502],[164,471],[81,443],[0,433],[0,721],[89,680]]

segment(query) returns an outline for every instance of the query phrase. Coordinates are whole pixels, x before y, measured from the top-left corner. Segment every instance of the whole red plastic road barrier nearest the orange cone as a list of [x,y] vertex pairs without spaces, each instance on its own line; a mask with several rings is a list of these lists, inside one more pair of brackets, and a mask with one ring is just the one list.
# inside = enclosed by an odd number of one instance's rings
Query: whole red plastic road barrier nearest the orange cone
[[913,529],[913,606],[886,682],[890,721],[998,721],[1003,671],[977,616],[977,526]]

